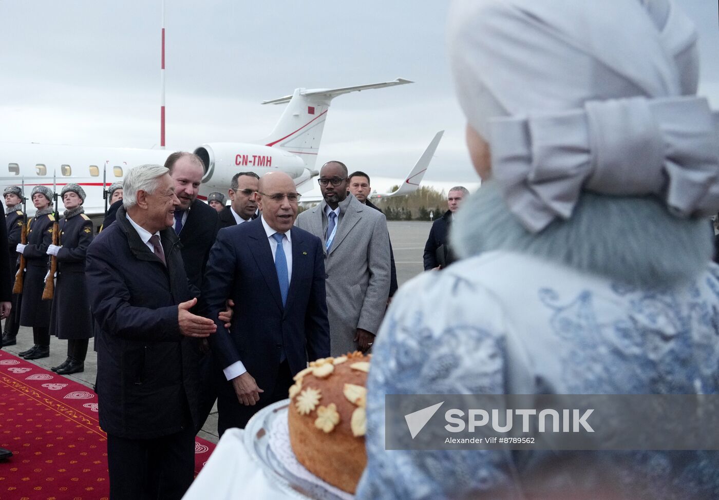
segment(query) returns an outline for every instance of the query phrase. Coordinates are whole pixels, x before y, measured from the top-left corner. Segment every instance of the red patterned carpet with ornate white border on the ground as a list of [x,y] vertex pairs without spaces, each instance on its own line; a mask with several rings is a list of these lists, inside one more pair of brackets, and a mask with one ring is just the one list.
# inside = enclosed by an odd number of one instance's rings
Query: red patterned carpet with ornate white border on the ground
[[[0,499],[107,499],[106,434],[97,394],[0,351]],[[195,441],[195,473],[215,445]]]

